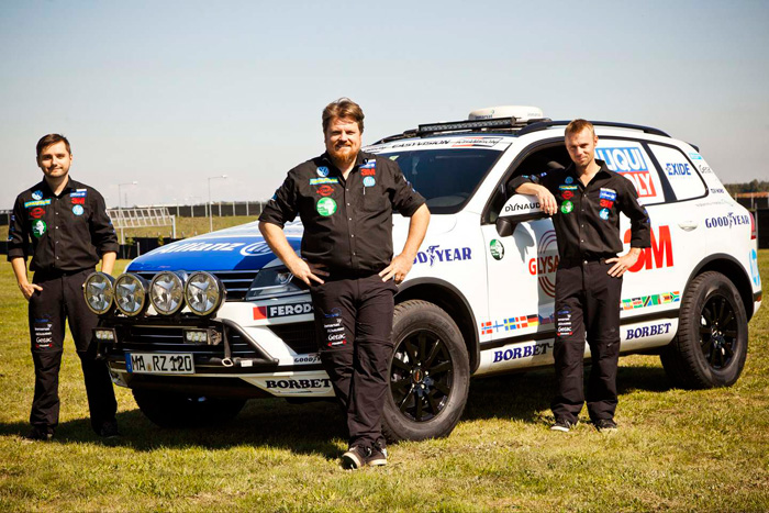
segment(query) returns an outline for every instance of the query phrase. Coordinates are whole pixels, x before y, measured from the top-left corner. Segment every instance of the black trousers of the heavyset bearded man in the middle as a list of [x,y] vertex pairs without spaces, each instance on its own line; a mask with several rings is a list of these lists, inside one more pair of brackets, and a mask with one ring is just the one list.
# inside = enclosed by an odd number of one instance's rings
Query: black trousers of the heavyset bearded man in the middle
[[321,363],[346,411],[350,446],[386,444],[381,421],[397,291],[378,275],[311,288]]

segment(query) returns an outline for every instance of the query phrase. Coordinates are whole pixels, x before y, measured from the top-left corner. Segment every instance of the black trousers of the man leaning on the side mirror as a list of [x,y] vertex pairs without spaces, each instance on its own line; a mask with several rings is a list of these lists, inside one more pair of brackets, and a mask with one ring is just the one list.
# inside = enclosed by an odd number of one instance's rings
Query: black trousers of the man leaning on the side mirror
[[555,416],[576,422],[586,402],[582,360],[587,335],[592,365],[588,380],[590,419],[613,419],[616,410],[616,368],[620,358],[622,278],[606,271],[603,260],[564,265],[556,271],[557,391]]

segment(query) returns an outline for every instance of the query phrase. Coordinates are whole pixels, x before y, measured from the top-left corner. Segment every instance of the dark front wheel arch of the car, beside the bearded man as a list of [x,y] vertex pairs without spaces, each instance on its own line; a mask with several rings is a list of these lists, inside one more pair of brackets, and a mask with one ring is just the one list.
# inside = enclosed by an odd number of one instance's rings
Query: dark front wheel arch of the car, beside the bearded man
[[442,308],[457,323],[467,347],[470,360],[470,375],[480,365],[480,345],[476,331],[476,316],[470,303],[456,287],[436,278],[416,278],[404,283],[395,294],[395,304],[411,299],[420,299]]

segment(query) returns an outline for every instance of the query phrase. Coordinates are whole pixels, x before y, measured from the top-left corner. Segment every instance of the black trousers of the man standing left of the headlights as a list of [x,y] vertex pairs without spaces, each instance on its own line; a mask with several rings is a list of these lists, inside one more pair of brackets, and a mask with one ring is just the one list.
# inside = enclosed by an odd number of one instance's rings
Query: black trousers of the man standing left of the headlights
[[75,348],[86,381],[91,426],[97,433],[104,422],[114,422],[118,403],[105,361],[96,359],[92,328],[99,317],[88,310],[82,283],[91,269],[73,275],[35,272],[33,282],[43,288],[30,298],[30,336],[35,365],[35,395],[30,423],[53,433],[58,425],[58,372],[64,350],[65,320],[69,320]]

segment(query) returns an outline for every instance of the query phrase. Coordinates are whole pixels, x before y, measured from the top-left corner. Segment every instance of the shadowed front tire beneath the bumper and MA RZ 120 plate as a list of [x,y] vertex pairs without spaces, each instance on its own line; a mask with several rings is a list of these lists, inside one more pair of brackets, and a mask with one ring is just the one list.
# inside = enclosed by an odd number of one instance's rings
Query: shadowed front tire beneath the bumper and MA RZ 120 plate
[[133,390],[133,394],[142,413],[160,427],[223,424],[233,420],[246,403],[244,399],[219,399],[159,390]]

